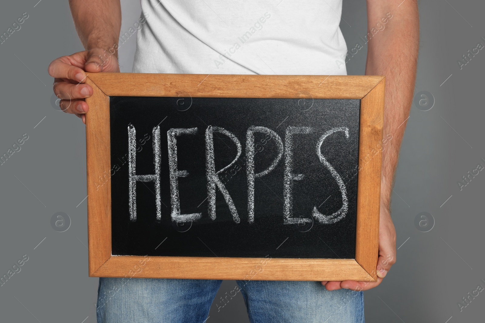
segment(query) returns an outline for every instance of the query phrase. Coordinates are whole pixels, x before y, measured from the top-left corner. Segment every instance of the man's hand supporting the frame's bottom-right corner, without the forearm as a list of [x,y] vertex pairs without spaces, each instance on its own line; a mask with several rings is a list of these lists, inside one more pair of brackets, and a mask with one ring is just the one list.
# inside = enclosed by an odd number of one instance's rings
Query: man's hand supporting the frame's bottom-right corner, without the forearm
[[322,281],[322,285],[328,291],[335,291],[340,288],[346,288],[354,291],[366,291],[376,287],[386,277],[391,266],[396,262],[396,231],[392,223],[387,203],[381,201],[380,218],[379,218],[379,258],[377,260],[377,281]]

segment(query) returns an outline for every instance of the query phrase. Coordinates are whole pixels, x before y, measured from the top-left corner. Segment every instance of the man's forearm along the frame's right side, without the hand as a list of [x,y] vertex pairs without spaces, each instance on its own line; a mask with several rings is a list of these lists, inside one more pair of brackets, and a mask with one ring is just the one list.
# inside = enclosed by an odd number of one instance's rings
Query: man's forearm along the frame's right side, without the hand
[[[368,43],[366,75],[385,75],[384,145],[381,203],[389,207],[394,172],[406,120],[412,104],[419,48],[419,16],[416,0],[368,1],[368,32],[392,15],[385,29]],[[370,3],[372,2],[372,3]],[[401,4],[400,4],[401,3]],[[399,7],[398,7],[399,5]]]

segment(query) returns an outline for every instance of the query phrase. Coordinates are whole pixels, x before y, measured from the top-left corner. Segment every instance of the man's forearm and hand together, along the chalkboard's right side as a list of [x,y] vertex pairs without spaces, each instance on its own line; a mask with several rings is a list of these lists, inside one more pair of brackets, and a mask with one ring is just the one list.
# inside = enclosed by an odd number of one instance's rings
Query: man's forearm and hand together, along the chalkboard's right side
[[411,108],[419,48],[417,0],[367,0],[366,75],[386,76],[383,135],[392,135],[382,152],[379,258],[376,282],[323,281],[327,290],[365,291],[376,287],[396,262],[396,231],[389,214],[390,198]]

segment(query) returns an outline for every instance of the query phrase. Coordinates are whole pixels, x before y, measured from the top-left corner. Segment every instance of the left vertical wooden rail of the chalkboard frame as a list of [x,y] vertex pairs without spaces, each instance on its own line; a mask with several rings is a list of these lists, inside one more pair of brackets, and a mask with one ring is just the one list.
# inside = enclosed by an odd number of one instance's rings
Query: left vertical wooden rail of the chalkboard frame
[[89,273],[111,257],[110,98],[89,78],[86,98],[86,158]]

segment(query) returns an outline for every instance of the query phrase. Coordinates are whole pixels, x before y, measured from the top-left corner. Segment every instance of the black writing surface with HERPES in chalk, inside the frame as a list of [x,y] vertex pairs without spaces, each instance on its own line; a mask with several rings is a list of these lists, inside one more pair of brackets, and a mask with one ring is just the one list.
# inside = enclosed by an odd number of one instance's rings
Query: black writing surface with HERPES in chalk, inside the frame
[[109,106],[113,255],[355,258],[359,99]]

